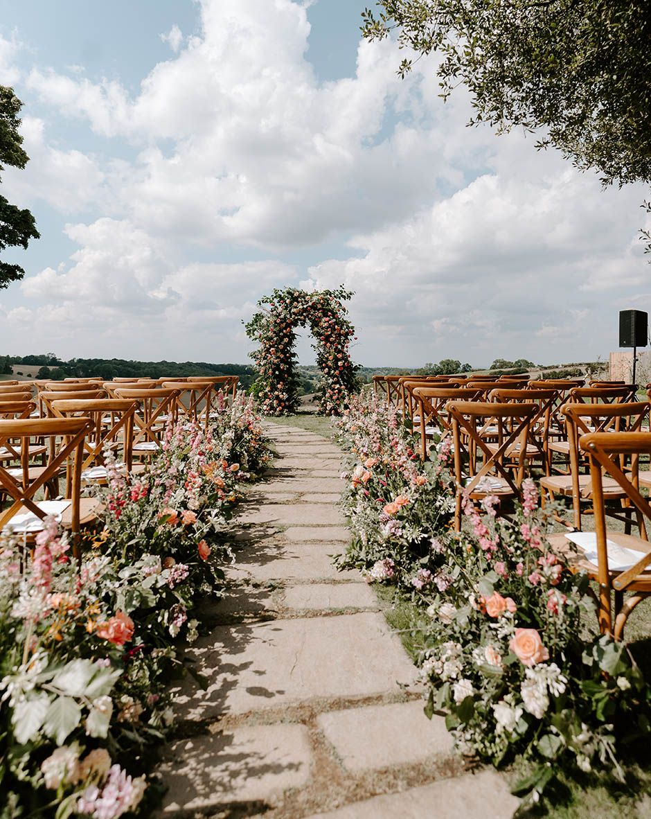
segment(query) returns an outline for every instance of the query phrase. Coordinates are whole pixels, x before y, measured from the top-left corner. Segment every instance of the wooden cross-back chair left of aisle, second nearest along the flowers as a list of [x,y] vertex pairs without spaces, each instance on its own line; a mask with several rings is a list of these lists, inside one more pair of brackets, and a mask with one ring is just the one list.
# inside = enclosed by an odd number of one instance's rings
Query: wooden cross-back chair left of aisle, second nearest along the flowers
[[93,429],[84,441],[81,464],[84,482],[106,483],[104,454],[111,449],[115,458],[131,470],[133,458],[133,419],[138,402],[128,398],[67,399],[52,401],[52,411],[61,418],[82,414]]

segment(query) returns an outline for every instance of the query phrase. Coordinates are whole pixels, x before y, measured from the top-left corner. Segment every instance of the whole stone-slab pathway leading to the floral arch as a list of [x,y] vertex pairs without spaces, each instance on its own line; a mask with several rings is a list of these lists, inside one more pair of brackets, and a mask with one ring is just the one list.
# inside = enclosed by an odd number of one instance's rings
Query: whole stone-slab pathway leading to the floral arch
[[507,819],[494,771],[451,753],[423,716],[415,669],[358,572],[332,555],[349,533],[337,509],[341,453],[269,424],[279,458],[238,522],[233,588],[174,689],[180,737],[163,750],[163,817]]

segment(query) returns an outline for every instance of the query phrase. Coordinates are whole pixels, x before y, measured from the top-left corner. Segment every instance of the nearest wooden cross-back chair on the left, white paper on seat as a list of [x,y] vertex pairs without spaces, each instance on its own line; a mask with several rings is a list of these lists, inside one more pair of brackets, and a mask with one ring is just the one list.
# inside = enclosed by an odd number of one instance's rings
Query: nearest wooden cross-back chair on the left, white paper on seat
[[[47,514],[51,514],[47,504],[52,502],[38,501],[38,491],[56,477],[61,468],[66,468],[70,470],[70,480],[66,481],[66,485],[70,486],[70,496],[55,503],[65,505],[67,502],[65,508],[61,509],[61,526],[71,530],[73,552],[75,557],[79,557],[80,528],[93,523],[100,507],[97,499],[81,497],[84,437],[90,426],[87,418],[0,420],[0,440],[17,438],[24,441],[20,462],[23,475],[17,479],[0,465],[0,485],[7,498],[12,501],[7,509],[0,512],[0,528],[9,525],[17,534],[24,536],[25,541],[33,541],[43,528],[41,521]],[[33,437],[55,437],[60,438],[62,442],[47,468],[35,481],[30,482],[26,442]],[[25,520],[25,517],[29,519]]]

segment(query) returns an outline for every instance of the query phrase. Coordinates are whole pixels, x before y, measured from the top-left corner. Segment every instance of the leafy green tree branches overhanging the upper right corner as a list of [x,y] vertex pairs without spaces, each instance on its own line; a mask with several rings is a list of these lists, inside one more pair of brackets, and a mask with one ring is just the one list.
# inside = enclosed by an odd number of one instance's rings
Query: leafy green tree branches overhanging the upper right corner
[[[379,0],[364,37],[396,31],[416,58],[436,52],[446,98],[468,87],[499,132],[540,130],[604,184],[651,181],[649,0]],[[406,57],[400,75],[413,66]]]

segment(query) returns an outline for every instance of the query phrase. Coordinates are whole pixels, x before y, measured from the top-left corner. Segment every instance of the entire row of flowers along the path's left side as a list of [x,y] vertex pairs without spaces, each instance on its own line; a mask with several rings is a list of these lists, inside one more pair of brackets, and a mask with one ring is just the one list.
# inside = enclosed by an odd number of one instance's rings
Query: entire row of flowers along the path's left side
[[108,456],[104,527],[79,563],[53,518],[26,565],[23,544],[2,533],[2,819],[149,815],[146,751],[174,719],[179,640],[197,636],[200,595],[223,587],[228,515],[267,459],[239,400],[208,431],[169,428],[142,473],[125,476]]

